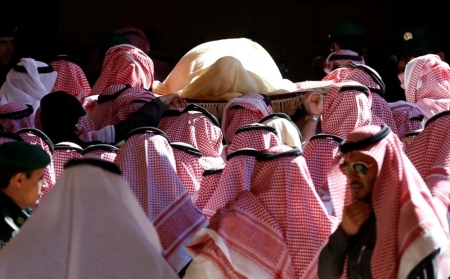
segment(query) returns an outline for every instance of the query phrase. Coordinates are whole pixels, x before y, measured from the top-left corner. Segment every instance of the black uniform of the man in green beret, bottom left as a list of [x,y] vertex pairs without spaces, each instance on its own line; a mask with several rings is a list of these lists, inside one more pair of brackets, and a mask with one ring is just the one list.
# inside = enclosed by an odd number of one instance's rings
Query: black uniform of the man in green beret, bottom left
[[31,209],[22,210],[0,191],[0,250],[19,232],[30,213]]

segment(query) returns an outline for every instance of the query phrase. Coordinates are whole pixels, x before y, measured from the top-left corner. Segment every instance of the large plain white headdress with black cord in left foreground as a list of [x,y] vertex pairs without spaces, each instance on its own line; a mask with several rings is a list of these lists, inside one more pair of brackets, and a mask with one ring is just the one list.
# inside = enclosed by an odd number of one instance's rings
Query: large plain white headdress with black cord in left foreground
[[178,278],[117,166],[95,159],[66,166],[0,259],[2,278]]

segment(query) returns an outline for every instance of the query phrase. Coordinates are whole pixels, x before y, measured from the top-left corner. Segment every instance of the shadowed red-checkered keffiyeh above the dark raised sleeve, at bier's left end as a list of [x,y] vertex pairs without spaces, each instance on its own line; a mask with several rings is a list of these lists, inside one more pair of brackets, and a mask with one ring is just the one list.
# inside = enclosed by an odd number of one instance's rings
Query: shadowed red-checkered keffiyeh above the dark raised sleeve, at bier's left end
[[125,90],[112,102],[113,117],[110,125],[115,125],[120,121],[126,120],[130,113],[139,110],[145,103],[151,102],[154,99],[155,95],[144,88],[134,87]]

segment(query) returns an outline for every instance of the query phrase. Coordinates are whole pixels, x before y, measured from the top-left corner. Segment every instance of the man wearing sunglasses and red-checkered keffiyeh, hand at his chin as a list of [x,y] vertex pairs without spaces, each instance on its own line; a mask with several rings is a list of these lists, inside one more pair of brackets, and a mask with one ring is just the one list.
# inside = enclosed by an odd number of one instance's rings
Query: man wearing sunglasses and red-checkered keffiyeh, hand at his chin
[[321,251],[319,278],[448,278],[448,233],[397,136],[360,127],[340,151],[328,186],[341,224]]

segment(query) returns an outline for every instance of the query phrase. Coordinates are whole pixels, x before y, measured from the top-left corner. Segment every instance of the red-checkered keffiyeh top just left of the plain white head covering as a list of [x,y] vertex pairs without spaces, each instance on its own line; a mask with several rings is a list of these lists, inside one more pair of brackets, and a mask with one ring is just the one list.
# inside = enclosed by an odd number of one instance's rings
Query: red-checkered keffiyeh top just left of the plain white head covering
[[275,128],[259,123],[243,126],[236,131],[227,151],[229,154],[245,148],[263,151],[281,145],[276,133]]

